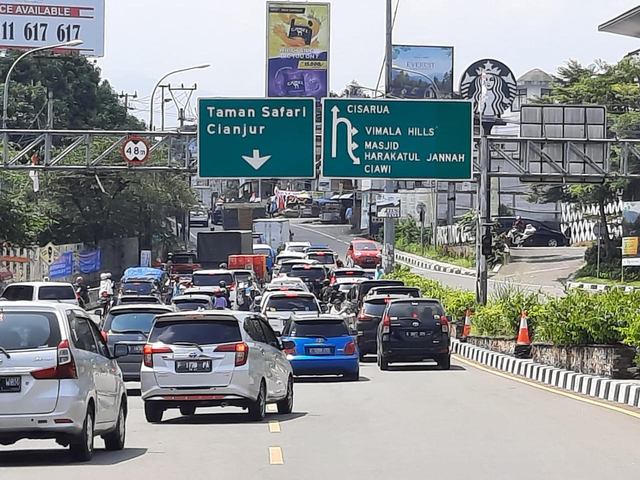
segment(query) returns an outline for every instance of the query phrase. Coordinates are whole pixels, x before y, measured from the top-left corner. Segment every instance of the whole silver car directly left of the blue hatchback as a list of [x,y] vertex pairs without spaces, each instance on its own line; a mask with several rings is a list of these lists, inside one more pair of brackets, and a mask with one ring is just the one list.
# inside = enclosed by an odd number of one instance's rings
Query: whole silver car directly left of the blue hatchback
[[242,407],[260,421],[266,405],[293,409],[293,370],[283,344],[256,314],[210,310],[156,317],[144,347],[142,399],[147,421],[165,410],[193,415],[199,407]]

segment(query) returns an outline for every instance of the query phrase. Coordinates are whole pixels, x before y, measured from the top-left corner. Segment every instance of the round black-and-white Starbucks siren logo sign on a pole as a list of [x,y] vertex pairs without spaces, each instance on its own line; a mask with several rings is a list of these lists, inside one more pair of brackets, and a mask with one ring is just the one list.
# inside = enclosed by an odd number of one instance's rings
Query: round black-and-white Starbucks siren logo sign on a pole
[[[499,117],[516,98],[518,84],[513,72],[497,60],[480,60],[462,75],[462,98],[473,100],[476,113],[481,117]],[[482,106],[482,111],[478,110]]]

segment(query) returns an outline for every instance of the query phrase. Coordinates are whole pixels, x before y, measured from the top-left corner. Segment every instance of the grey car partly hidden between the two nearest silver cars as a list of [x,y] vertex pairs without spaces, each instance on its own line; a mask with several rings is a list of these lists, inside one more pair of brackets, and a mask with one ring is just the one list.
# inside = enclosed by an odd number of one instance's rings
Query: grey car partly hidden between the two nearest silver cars
[[140,381],[142,349],[147,343],[156,315],[175,312],[171,305],[119,305],[109,310],[102,326],[102,338],[113,351],[116,343],[126,344],[129,354],[118,358],[125,382]]

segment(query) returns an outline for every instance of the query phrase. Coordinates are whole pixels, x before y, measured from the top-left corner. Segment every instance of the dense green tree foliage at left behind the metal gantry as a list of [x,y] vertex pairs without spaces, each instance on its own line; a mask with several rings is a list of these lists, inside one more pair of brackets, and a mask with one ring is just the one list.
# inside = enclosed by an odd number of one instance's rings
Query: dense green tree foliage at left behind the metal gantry
[[[6,77],[17,55],[10,52],[0,58],[0,78]],[[54,96],[56,129],[144,129],[120,105],[100,70],[78,55],[34,55],[18,64],[9,90],[9,128],[46,128],[48,92]],[[94,153],[103,151],[105,142],[94,139]],[[149,162],[166,163],[168,154],[167,148],[159,148]],[[83,164],[84,151],[74,155],[66,161]],[[122,159],[113,152],[105,162],[122,164]],[[195,203],[183,174],[41,172],[39,180],[40,190],[33,192],[27,174],[0,172],[0,242],[97,243],[137,236],[150,247],[152,239],[170,241],[167,218],[181,218]]]

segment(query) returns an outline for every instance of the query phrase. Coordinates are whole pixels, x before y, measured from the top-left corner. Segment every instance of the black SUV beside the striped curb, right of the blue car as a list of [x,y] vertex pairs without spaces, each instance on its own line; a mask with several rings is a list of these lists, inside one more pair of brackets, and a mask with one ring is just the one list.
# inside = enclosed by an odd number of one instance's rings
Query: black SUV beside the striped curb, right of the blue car
[[435,360],[451,368],[450,318],[438,300],[412,298],[387,304],[378,326],[378,366],[388,370],[393,362]]

